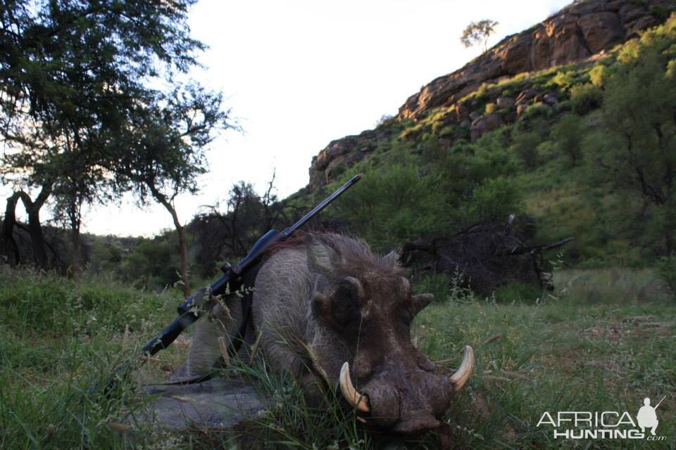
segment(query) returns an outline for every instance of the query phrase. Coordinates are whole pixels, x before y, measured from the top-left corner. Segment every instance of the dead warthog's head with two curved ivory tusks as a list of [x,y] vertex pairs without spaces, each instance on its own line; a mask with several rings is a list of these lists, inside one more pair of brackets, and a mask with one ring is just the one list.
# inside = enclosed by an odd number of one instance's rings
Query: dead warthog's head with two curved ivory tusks
[[[332,340],[317,349],[325,376],[339,379],[365,423],[401,434],[437,428],[472,372],[472,348],[465,347],[456,373],[435,373],[411,342],[413,318],[434,297],[411,293],[395,252],[378,257],[365,243],[337,235],[308,236],[306,245],[310,270],[325,277],[311,300],[313,319]],[[335,359],[337,347],[339,369],[327,357]]]

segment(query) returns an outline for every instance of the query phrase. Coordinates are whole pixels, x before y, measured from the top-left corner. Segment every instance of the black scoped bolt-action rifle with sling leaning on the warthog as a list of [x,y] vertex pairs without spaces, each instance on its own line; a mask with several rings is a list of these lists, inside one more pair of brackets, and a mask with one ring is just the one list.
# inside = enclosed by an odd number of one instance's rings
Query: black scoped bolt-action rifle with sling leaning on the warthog
[[[292,226],[284,229],[284,231],[270,230],[268,233],[265,233],[256,241],[249,251],[249,254],[234,266],[231,266],[226,262],[220,268],[223,271],[223,275],[211,283],[211,285],[201,288],[192,295],[192,297],[185,299],[179,307],[177,307],[178,315],[176,319],[142,347],[141,354],[139,355],[141,361],[140,364],[147,361],[149,356],[153,356],[157,352],[169,347],[178,335],[198,321],[205,311],[210,311],[217,301],[213,297],[235,292],[243,285],[253,285],[253,279],[256,278],[258,272],[258,263],[261,261],[261,257],[266,250],[273,244],[289,238],[294,231],[306,224],[308,220],[312,219],[316,214],[327,207],[329,203],[347,191],[347,189],[360,179],[361,174],[353,176],[346,184],[338,188],[334,193],[325,198],[322,203],[313,207],[310,212],[301,217],[301,219]],[[246,332],[246,324],[249,322],[250,312],[251,295],[249,293],[249,295],[242,296],[242,323],[239,326],[237,336],[235,339],[231,340],[229,349],[230,354],[236,354],[239,350],[239,346],[242,345],[242,342],[244,341],[244,333]],[[134,364],[129,363],[120,364],[120,366],[116,367],[115,371],[113,371],[115,375],[106,384],[106,387],[104,387],[104,395],[106,395],[106,397],[108,396],[108,393],[113,388],[117,375],[120,375],[121,378],[125,378],[132,370],[134,370]],[[92,387],[92,389],[89,390],[89,393],[91,394],[94,391],[95,388]]]

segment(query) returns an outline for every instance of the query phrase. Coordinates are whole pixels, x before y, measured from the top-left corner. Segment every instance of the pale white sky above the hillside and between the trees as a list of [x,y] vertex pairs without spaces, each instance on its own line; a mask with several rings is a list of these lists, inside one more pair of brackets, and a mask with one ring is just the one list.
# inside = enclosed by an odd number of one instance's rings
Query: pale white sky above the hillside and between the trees
[[[478,46],[459,41],[470,21],[499,22],[491,46],[570,1],[200,0],[190,26],[210,49],[200,57],[206,69],[192,75],[223,91],[244,133],[226,131],[213,142],[201,193],[177,199],[181,220],[225,200],[239,180],[263,191],[275,169],[278,195],[294,193],[330,141],[372,129],[421,86],[477,56]],[[85,232],[118,236],[171,227],[161,206],[140,210],[131,201],[95,207],[83,220]]]

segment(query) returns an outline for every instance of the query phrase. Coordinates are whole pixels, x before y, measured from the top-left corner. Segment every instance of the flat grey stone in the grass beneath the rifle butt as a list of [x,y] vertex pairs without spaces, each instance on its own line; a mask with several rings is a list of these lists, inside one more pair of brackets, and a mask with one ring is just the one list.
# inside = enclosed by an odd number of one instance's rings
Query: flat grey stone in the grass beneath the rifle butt
[[[142,393],[160,397],[135,414],[139,423],[167,430],[228,430],[264,408],[266,400],[253,385],[213,378],[192,385],[150,385]],[[133,424],[131,418],[127,423]]]

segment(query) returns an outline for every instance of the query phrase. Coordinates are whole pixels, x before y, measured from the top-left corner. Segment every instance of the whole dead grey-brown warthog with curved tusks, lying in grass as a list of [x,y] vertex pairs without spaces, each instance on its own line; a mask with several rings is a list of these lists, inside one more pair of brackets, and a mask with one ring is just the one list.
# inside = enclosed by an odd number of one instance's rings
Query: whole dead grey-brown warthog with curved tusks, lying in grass
[[[458,371],[437,375],[415,348],[411,321],[432,300],[412,295],[396,252],[381,257],[362,240],[306,234],[276,245],[263,262],[253,324],[271,366],[291,371],[309,396],[324,381],[339,383],[362,421],[411,434],[440,425],[474,363],[465,347]],[[230,314],[217,306],[215,320],[198,324],[180,377],[211,371],[223,336],[229,340],[237,329],[239,299],[226,302]]]

